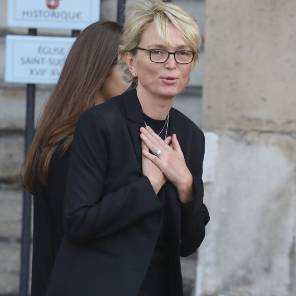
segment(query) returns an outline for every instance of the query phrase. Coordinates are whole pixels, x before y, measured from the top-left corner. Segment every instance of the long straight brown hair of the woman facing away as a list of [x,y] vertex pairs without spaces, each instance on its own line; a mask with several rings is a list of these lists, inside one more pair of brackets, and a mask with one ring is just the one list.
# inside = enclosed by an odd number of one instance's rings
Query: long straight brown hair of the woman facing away
[[41,183],[46,184],[57,145],[61,143],[61,153],[65,153],[80,115],[95,105],[104,80],[117,64],[121,35],[121,24],[97,21],[86,27],[73,43],[22,165],[20,180],[30,193],[34,193],[36,173]]

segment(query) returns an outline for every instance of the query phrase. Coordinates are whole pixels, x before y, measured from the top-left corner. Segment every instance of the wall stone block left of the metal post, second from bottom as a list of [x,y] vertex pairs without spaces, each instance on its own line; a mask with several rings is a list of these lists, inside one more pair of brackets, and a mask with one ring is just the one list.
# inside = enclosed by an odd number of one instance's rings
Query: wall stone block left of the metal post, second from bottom
[[22,191],[0,190],[0,237],[20,238]]

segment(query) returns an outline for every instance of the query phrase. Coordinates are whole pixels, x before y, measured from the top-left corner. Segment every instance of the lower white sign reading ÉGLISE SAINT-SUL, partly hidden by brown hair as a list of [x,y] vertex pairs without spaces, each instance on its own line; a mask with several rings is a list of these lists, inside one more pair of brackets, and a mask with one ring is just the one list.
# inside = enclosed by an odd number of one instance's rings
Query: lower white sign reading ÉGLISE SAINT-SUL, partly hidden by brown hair
[[75,39],[7,35],[5,81],[55,84]]

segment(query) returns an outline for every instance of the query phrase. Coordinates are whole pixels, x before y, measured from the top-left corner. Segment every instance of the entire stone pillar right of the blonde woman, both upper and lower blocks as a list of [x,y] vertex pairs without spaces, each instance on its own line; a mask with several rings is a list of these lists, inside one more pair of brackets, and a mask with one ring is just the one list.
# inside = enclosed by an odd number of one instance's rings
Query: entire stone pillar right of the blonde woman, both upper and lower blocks
[[295,0],[206,2],[203,129],[218,140],[196,296],[296,294],[295,28]]

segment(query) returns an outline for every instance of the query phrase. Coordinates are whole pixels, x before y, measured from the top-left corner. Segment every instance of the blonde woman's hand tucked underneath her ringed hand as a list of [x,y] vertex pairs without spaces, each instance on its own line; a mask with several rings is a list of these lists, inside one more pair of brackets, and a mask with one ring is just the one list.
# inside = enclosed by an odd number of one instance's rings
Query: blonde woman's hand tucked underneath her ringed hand
[[[167,137],[164,141],[168,144],[170,142],[171,137]],[[146,144],[142,141],[142,150],[149,152],[148,147]],[[145,157],[142,154],[142,171],[143,176],[146,176],[155,191],[155,194],[159,192],[161,187],[166,183],[167,179],[163,175],[163,172],[158,168],[156,164],[154,164],[150,159]]]

